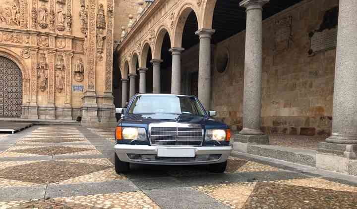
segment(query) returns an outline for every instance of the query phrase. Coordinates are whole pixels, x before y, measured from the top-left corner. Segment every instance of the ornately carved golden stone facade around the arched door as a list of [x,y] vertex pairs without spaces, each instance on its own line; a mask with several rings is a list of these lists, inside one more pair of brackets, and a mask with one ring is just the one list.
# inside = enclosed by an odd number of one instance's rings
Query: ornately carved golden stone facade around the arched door
[[[83,125],[115,125],[108,97],[113,9],[114,0],[6,0],[0,5],[0,56],[21,70],[21,118],[81,116]],[[103,67],[97,69],[97,62]],[[96,83],[97,75],[106,81]]]

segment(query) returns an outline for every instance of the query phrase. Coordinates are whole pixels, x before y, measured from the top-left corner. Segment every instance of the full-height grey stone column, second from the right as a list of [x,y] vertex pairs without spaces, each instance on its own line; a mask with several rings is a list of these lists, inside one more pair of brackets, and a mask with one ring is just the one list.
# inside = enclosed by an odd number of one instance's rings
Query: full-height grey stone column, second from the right
[[[262,88],[262,6],[269,0],[243,0],[246,8],[243,129],[236,142],[269,144],[269,138],[260,130]],[[236,147],[235,147],[236,148]]]

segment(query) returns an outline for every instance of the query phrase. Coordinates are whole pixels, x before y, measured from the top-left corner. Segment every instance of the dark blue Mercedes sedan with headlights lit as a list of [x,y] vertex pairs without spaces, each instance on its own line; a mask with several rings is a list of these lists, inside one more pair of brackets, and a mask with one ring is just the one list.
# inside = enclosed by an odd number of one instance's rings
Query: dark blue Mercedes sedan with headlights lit
[[130,163],[156,165],[209,164],[224,172],[232,148],[228,125],[214,121],[194,96],[137,94],[121,114],[116,128],[115,169]]

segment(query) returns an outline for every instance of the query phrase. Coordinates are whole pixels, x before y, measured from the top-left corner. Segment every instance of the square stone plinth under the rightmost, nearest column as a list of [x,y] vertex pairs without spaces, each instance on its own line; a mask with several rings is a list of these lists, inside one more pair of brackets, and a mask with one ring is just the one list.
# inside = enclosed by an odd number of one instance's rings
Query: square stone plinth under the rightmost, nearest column
[[357,159],[357,144],[320,142],[317,147],[319,153],[337,155],[347,159]]

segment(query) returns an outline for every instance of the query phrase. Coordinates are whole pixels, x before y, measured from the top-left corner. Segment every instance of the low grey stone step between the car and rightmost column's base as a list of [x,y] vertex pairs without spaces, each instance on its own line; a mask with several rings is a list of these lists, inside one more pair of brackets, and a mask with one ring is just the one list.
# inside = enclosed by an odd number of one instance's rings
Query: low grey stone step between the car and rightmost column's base
[[251,155],[283,160],[305,166],[316,167],[316,151],[275,145],[255,145],[234,142],[234,150]]

